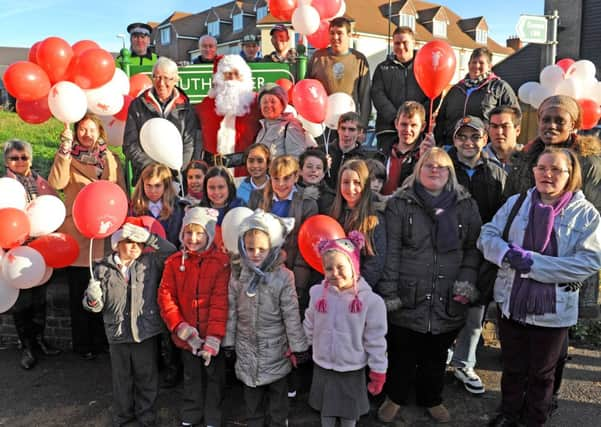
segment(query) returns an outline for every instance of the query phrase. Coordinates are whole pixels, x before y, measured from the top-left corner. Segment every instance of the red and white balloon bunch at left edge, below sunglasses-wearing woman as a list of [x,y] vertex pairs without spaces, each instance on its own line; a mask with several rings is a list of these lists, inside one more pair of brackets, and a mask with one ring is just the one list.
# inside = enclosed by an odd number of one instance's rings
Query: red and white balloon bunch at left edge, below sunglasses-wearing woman
[[[79,255],[77,241],[56,233],[66,209],[56,196],[27,203],[23,185],[0,178],[0,313],[17,301],[20,289],[44,284],[54,268],[71,265]],[[5,252],[7,250],[7,252]]]

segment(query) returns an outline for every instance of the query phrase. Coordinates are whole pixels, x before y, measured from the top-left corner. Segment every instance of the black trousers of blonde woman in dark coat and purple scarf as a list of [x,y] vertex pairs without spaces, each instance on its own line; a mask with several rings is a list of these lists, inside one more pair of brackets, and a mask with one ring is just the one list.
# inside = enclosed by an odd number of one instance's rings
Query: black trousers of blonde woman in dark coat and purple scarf
[[388,372],[386,395],[397,405],[407,403],[415,386],[416,402],[431,408],[442,403],[447,349],[458,330],[444,334],[422,334],[400,326],[388,326]]

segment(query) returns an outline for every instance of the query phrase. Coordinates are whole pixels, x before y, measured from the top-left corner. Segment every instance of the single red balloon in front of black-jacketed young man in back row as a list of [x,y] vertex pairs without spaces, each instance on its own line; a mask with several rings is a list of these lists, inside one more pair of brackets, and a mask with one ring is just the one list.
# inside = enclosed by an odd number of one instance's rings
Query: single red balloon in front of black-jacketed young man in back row
[[447,42],[432,40],[415,55],[415,79],[430,99],[440,95],[455,74],[455,53]]

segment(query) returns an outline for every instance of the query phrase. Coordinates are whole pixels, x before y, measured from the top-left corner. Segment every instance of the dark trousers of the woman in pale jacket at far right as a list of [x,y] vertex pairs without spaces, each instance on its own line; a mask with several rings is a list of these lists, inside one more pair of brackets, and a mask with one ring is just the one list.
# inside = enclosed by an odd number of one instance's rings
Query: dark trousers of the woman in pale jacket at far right
[[524,325],[503,316],[499,316],[498,325],[503,350],[501,410],[506,417],[517,420],[525,409],[528,427],[543,426],[568,328]]

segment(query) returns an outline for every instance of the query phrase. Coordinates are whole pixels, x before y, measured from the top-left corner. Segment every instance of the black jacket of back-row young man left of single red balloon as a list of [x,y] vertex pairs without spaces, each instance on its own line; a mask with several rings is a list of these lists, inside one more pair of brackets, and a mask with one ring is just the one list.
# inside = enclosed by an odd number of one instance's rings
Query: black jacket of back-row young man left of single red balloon
[[417,101],[428,111],[430,99],[417,84],[413,59],[402,63],[394,54],[376,67],[371,82],[371,100],[376,107],[376,133],[384,130],[396,133],[394,121],[405,101]]

